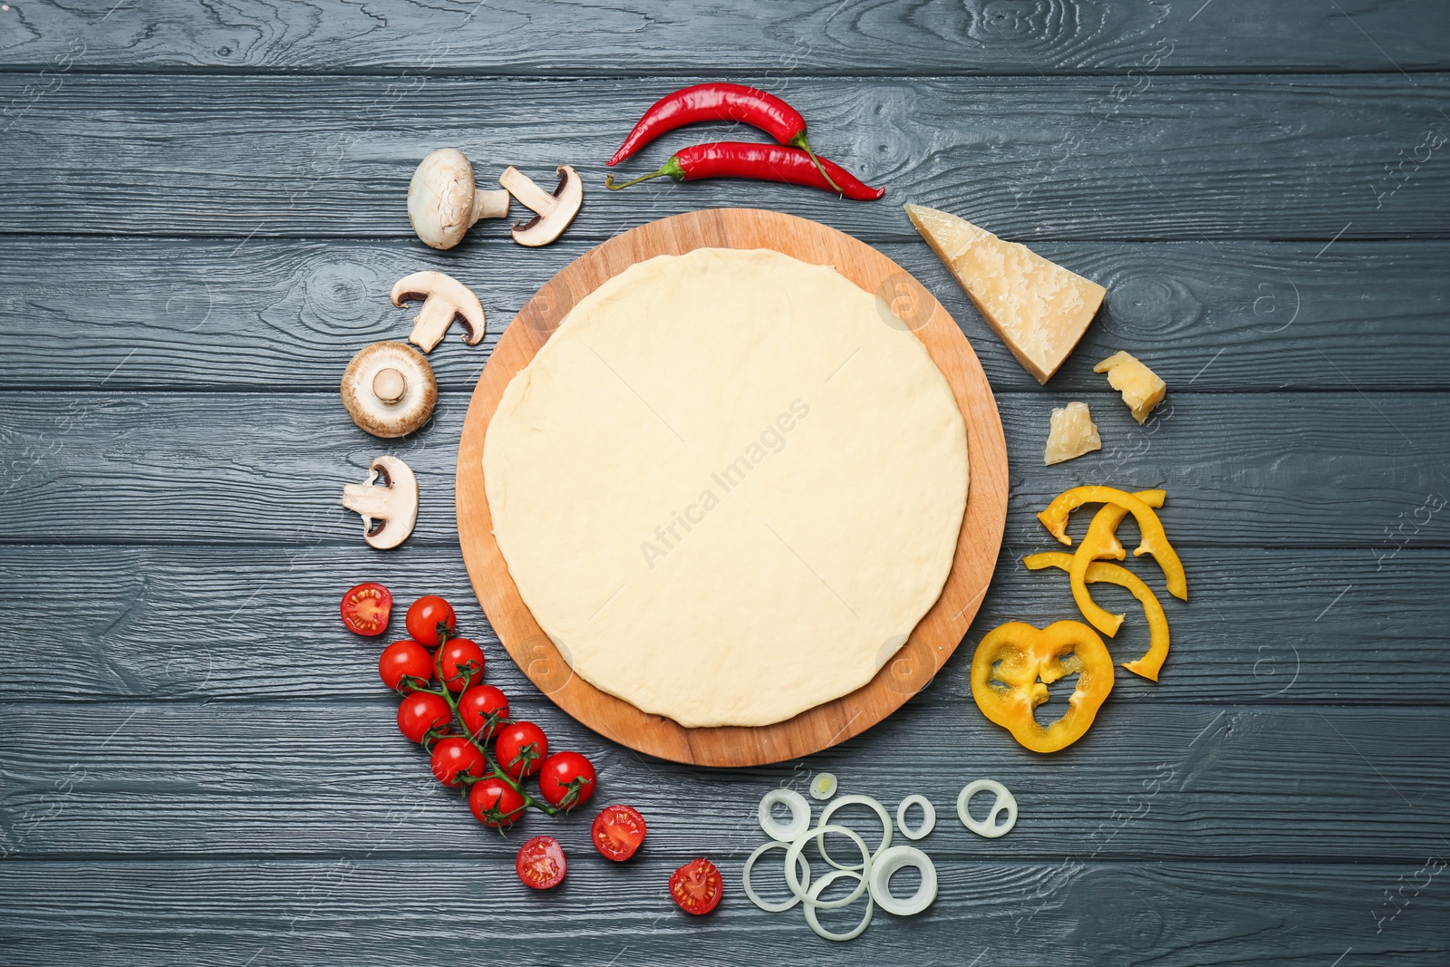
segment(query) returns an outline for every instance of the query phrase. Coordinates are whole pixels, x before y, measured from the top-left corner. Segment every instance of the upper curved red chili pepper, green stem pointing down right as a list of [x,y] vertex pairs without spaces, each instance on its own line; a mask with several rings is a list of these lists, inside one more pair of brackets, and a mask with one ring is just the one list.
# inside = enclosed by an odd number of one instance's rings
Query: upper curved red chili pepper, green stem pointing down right
[[[719,83],[682,87],[657,100],[606,164],[613,167],[660,135],[702,120],[737,120],[760,128],[779,144],[805,151],[825,175],[806,139],[806,119],[800,112],[757,87]],[[829,175],[825,178],[831,190],[840,193],[840,186]]]

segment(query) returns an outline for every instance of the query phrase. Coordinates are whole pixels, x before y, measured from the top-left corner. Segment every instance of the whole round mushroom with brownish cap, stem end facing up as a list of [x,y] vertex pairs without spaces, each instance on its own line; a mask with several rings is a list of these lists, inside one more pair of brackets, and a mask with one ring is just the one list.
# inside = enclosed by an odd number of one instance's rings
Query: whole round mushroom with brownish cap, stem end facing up
[[[378,391],[387,396],[397,391],[393,373],[402,377],[402,396],[389,402]],[[438,403],[438,380],[428,360],[412,346],[392,341],[358,349],[342,373],[341,390],[352,422],[374,436],[412,433],[428,422]]]

